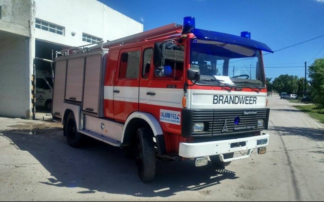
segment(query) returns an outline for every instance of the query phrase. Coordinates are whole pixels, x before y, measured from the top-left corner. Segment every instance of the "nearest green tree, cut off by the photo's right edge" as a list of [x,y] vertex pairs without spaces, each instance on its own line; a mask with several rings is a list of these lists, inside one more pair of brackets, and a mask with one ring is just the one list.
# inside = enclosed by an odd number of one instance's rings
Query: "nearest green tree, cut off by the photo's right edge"
[[316,59],[308,68],[310,80],[310,92],[313,102],[324,108],[324,58]]

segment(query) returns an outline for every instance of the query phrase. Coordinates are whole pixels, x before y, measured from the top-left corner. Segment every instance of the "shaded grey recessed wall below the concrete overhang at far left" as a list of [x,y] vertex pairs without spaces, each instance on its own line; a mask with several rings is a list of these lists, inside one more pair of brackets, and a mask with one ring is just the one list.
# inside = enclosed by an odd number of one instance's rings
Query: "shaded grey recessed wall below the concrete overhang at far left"
[[[29,118],[29,39],[0,35],[0,115]],[[26,97],[27,96],[27,97]]]

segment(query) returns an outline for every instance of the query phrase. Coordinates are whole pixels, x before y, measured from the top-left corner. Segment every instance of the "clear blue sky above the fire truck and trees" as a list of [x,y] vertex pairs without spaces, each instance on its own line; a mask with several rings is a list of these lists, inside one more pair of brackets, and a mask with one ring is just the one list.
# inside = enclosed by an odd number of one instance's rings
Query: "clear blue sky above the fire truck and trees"
[[186,16],[194,17],[199,29],[238,36],[249,31],[251,39],[275,51],[263,52],[269,78],[305,77],[304,63],[308,69],[316,58],[324,58],[324,0],[99,1],[143,24],[144,31],[182,24]]

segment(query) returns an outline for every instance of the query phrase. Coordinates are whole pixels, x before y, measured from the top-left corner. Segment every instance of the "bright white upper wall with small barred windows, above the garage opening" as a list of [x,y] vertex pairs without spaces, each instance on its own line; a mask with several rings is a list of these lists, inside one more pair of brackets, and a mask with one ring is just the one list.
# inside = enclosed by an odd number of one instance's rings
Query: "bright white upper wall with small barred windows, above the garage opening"
[[[35,29],[37,40],[65,46],[89,44],[83,33],[107,40],[143,31],[143,25],[97,0],[35,0],[36,18],[65,28],[65,35]],[[35,27],[35,25],[34,25]],[[75,32],[75,36],[71,33]]]

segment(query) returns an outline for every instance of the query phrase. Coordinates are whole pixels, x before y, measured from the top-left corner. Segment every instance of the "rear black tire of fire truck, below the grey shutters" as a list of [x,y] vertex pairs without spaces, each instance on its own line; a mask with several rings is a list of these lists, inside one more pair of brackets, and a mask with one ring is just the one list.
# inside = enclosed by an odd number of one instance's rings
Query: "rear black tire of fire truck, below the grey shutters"
[[82,144],[83,135],[77,132],[74,114],[68,114],[63,126],[63,133],[66,136],[68,145],[73,148],[78,148]]

